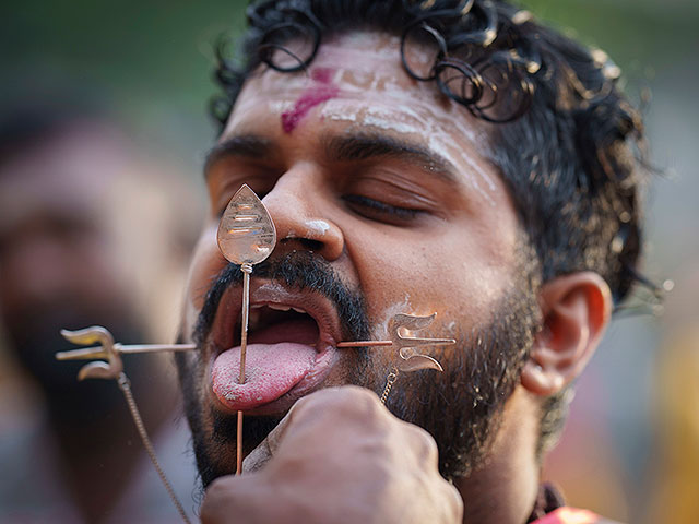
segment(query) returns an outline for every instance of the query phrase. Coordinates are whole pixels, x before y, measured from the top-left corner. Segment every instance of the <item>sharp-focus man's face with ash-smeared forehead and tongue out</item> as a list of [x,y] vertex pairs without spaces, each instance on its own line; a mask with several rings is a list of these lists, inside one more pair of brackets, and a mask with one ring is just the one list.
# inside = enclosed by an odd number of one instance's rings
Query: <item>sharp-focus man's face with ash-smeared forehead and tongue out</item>
[[[413,60],[428,59],[412,52]],[[443,374],[401,376],[391,393],[394,413],[425,426],[431,424],[425,413],[450,391],[473,404],[452,405],[460,426],[484,398],[475,360],[489,358],[498,343],[526,345],[531,326],[502,321],[503,311],[532,318],[533,307],[522,289],[516,212],[485,159],[484,128],[434,83],[411,80],[400,40],[386,35],[334,38],[308,72],[261,68],[246,82],[206,165],[211,214],[192,261],[181,331],[200,346],[189,361],[181,357],[180,371],[204,483],[235,467],[237,409],[247,414],[250,451],[316,389],[352,382],[380,394],[396,353],[335,345],[387,338],[396,313],[436,312],[419,334],[459,341],[434,352]],[[246,386],[235,378],[239,272],[216,245],[221,214],[242,183],[262,198],[277,233],[270,262],[252,273]],[[275,311],[289,307],[303,312]],[[498,338],[510,332],[516,340]],[[507,349],[494,357],[500,367]],[[486,412],[493,416],[493,406]],[[439,437],[453,436],[436,434],[441,445]]]

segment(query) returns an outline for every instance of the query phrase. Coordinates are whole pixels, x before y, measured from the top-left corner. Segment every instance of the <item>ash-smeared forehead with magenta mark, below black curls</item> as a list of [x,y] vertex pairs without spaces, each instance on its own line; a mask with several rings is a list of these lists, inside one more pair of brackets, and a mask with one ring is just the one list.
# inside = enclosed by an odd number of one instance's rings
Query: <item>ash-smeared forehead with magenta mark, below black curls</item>
[[[411,63],[433,60],[406,49]],[[222,134],[284,139],[321,126],[339,133],[388,134],[457,166],[490,205],[506,198],[489,151],[486,124],[443,96],[435,82],[412,79],[401,61],[401,39],[375,32],[334,36],[319,47],[308,71],[284,73],[261,66],[245,83]],[[264,128],[264,129],[261,129]]]

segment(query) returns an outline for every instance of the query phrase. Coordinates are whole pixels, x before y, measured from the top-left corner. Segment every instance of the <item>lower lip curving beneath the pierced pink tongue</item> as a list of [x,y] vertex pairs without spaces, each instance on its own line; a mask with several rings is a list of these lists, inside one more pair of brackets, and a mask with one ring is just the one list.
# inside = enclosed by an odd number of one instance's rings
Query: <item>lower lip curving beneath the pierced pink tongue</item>
[[[320,344],[320,343],[319,343]],[[286,412],[301,396],[309,394],[328,378],[337,358],[335,348],[328,344],[318,352],[311,367],[300,377],[276,390],[275,395],[260,395],[257,398],[248,395],[226,395],[224,389],[216,384],[213,369],[210,371],[210,391],[215,404],[224,412],[246,412],[250,415],[276,415]],[[213,366],[212,366],[213,367]]]

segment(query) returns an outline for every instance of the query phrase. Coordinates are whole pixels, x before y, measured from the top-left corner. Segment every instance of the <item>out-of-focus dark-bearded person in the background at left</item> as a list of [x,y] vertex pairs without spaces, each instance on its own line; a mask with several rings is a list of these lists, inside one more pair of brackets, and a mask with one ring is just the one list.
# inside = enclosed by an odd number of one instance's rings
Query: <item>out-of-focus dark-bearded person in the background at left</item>
[[[168,522],[169,499],[117,384],[78,382],[85,362],[55,354],[74,347],[61,329],[102,324],[122,343],[162,335],[139,284],[153,301],[171,276],[181,278],[188,215],[153,218],[174,207],[156,182],[165,166],[139,158],[97,111],[46,99],[0,120],[0,323],[16,371],[5,367],[0,378],[0,521]],[[150,257],[133,264],[140,253]],[[159,282],[143,271],[158,262]],[[162,298],[173,300],[174,289]],[[141,356],[125,370],[170,480],[190,496],[194,469],[185,430],[173,424],[168,362]]]

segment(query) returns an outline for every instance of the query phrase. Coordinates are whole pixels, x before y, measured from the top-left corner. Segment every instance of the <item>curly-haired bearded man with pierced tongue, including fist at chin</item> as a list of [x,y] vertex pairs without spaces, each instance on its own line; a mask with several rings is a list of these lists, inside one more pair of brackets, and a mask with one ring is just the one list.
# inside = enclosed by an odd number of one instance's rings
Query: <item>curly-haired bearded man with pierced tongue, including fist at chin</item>
[[[499,1],[272,0],[248,21],[245,62],[220,49],[178,356],[202,521],[567,522],[542,458],[639,257],[618,68]],[[241,385],[216,229],[244,183],[279,241]],[[434,312],[445,372],[400,374],[384,407],[396,355],[337,343]]]

